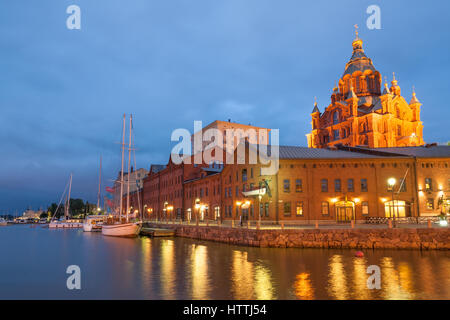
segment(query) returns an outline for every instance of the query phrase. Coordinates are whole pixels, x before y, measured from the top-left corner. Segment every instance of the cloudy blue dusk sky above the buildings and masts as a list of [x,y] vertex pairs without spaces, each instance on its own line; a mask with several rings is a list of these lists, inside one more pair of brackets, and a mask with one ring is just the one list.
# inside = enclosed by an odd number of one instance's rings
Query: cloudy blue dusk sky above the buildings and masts
[[[369,5],[381,29],[369,30]],[[81,9],[69,30],[66,9]],[[133,114],[137,166],[165,164],[194,120],[280,129],[306,146],[352,53],[354,24],[382,76],[415,86],[426,142],[450,140],[450,2],[297,0],[0,1],[0,214],[72,196],[96,202],[120,170]]]

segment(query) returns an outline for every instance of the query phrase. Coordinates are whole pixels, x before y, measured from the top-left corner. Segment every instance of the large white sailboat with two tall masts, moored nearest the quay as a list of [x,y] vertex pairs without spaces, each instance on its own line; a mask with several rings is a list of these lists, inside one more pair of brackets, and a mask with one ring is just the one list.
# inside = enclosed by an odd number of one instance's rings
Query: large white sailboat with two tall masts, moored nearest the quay
[[123,115],[123,124],[122,124],[122,164],[120,170],[120,205],[118,217],[119,221],[113,221],[112,223],[104,224],[102,227],[102,234],[105,236],[114,236],[114,237],[136,237],[141,231],[141,222],[131,222],[129,218],[130,212],[130,162],[131,162],[131,136],[132,136],[132,125],[133,120],[130,115],[130,133],[129,133],[129,144],[128,144],[128,179],[127,179],[127,211],[125,219],[122,217],[122,208],[123,208],[123,166],[124,166],[124,157],[125,157],[125,127],[126,127],[126,115]]

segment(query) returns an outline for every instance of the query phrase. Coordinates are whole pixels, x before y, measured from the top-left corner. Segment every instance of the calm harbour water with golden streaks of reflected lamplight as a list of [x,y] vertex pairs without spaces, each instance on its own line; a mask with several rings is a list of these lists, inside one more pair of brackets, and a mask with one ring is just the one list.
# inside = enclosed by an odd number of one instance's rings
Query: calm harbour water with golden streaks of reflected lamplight
[[[447,251],[237,247],[182,238],[108,238],[81,230],[0,229],[0,298],[450,299]],[[65,287],[68,265],[82,290]],[[367,288],[367,267],[381,289]]]

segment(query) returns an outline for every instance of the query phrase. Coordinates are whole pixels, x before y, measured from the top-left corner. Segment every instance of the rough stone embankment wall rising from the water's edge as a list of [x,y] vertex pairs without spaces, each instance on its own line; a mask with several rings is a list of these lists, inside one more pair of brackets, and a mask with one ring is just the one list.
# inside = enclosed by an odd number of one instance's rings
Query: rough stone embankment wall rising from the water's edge
[[401,229],[247,229],[149,224],[175,236],[235,245],[272,248],[450,249],[449,228]]

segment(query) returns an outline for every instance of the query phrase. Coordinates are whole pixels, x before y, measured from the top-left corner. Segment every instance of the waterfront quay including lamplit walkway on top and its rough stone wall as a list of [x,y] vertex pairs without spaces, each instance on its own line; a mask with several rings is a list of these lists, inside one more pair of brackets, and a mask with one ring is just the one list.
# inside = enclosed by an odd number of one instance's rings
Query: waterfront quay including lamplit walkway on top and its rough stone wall
[[173,229],[175,236],[234,245],[275,248],[349,248],[449,250],[450,229],[432,223],[295,225],[152,221],[147,226]]

